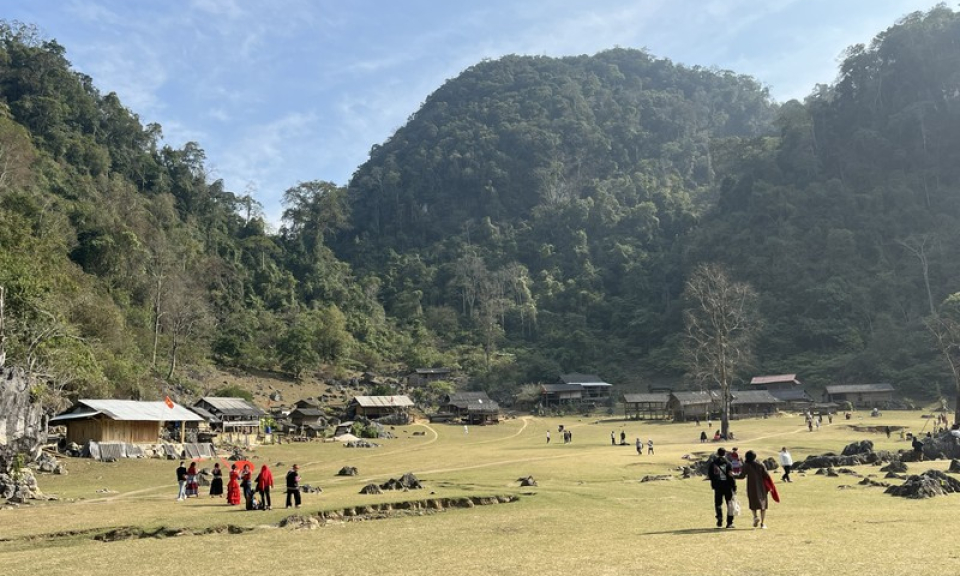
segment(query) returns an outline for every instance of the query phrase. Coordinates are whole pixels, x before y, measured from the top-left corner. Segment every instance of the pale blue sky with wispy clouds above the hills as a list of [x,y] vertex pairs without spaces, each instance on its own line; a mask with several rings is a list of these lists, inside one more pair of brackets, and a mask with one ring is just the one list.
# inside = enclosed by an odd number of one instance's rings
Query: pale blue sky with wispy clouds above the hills
[[164,142],[197,142],[279,225],[299,182],[346,185],[445,81],[507,54],[643,48],[757,78],[777,101],[934,0],[3,0]]

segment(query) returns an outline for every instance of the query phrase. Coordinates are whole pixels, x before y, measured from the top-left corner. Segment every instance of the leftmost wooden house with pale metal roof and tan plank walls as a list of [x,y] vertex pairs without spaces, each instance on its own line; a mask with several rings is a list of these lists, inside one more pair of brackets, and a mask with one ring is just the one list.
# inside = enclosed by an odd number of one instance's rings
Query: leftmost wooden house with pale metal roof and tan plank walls
[[153,444],[160,439],[166,422],[186,422],[201,417],[171,402],[138,402],[136,400],[79,400],[66,412],[50,419],[50,424],[67,428],[67,442],[83,445],[94,442]]

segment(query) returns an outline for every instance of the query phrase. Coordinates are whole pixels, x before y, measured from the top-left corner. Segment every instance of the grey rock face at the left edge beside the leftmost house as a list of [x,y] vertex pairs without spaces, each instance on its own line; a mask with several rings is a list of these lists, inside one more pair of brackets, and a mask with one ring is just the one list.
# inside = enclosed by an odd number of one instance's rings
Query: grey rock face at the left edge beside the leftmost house
[[0,368],[0,472],[17,454],[36,460],[44,440],[43,411],[32,399],[33,382],[19,368]]

